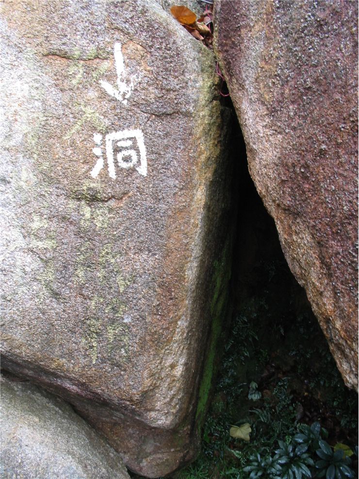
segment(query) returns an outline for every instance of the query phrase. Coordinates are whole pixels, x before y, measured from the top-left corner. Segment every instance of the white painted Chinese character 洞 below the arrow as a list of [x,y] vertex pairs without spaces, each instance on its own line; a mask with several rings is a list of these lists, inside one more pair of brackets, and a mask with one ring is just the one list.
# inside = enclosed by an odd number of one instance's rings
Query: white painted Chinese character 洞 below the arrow
[[[98,173],[104,167],[102,153],[102,135],[95,133],[96,147],[92,149],[98,156],[96,165],[91,171],[91,176],[97,178]],[[116,178],[114,166],[114,154],[120,168],[133,168],[143,176],[147,176],[147,156],[145,141],[141,130],[123,130],[109,133],[105,137],[106,158],[110,178]]]

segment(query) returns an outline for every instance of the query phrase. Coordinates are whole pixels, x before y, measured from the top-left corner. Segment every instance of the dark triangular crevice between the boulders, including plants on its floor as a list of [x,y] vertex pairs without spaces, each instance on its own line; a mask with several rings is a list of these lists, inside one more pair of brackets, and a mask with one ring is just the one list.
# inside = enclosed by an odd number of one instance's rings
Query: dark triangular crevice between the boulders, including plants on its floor
[[[262,473],[251,477],[319,478],[331,474],[333,457],[338,477],[355,478],[358,395],[345,387],[306,292],[287,265],[275,222],[249,175],[234,110],[233,121],[239,186],[234,191],[238,211],[232,322],[219,346],[223,357],[201,455],[173,478],[245,479],[253,471],[259,474],[261,467]],[[250,428],[246,440],[240,437],[244,425]],[[237,427],[238,437],[231,437],[231,426]],[[317,438],[306,448],[300,437],[311,434],[310,426]],[[316,452],[322,447],[319,439],[328,448],[325,460]],[[278,454],[287,454],[288,461],[279,459],[276,476],[270,464],[278,461]]]

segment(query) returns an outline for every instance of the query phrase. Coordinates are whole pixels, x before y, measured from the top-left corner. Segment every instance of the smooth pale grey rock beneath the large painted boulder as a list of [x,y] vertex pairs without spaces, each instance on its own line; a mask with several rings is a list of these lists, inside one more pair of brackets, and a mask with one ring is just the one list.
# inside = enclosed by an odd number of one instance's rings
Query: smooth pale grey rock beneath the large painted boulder
[[59,397],[1,378],[1,478],[130,479],[121,458]]

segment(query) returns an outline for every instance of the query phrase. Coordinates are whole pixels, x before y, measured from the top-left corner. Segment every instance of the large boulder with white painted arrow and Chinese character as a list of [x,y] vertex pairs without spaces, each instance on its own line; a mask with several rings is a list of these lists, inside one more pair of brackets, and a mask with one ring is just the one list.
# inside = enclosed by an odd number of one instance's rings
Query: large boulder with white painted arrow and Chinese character
[[1,29],[2,366],[164,475],[196,454],[226,304],[212,52],[150,0],[5,1]]

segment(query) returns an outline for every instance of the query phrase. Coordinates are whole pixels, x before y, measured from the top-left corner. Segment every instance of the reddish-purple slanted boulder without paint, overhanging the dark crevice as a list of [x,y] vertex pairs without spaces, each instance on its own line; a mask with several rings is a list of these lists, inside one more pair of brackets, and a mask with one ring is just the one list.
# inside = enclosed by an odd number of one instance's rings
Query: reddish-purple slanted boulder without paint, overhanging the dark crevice
[[358,388],[358,4],[215,3],[215,51],[289,266]]

